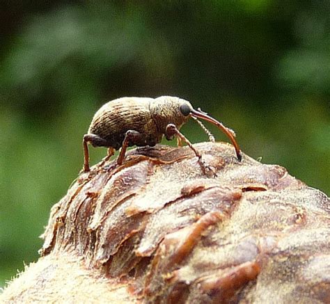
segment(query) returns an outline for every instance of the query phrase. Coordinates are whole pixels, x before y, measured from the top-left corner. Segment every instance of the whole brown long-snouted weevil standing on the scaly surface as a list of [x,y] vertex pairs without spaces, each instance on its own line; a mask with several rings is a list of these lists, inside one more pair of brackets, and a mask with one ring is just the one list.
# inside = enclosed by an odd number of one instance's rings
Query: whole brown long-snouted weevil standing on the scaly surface
[[[113,155],[114,150],[119,150],[121,147],[117,159],[117,164],[120,165],[125,159],[127,147],[132,145],[153,147],[162,141],[163,136],[168,140],[178,136],[178,141],[187,143],[202,163],[201,153],[179,131],[190,117],[196,120],[202,118],[219,127],[233,143],[237,159],[242,160],[235,140],[235,132],[201,109],[195,110],[187,100],[171,96],[155,99],[123,97],[104,104],[95,113],[83,140],[84,171],[90,170],[88,143],[93,147],[108,147],[109,157]],[[201,122],[200,125],[203,127]]]

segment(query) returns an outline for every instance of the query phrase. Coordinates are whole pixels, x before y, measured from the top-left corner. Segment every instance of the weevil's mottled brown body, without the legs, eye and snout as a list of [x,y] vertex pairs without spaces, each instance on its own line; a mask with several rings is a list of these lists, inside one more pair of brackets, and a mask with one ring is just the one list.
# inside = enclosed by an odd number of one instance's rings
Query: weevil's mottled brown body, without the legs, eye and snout
[[[100,136],[106,145],[118,150],[128,130],[141,134],[129,146],[155,145],[162,141],[166,127],[173,123],[178,129],[187,122],[187,116],[180,113],[181,104],[189,104],[184,99],[162,96],[156,99],[147,97],[123,97],[104,104],[94,115],[88,134]],[[191,104],[189,104],[191,107]],[[192,108],[192,107],[191,107]],[[95,142],[91,141],[92,145]]]

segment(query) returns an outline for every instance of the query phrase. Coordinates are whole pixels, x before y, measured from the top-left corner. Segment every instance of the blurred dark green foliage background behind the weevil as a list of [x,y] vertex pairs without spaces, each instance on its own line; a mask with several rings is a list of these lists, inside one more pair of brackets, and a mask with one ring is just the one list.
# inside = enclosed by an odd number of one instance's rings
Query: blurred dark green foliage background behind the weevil
[[188,99],[246,154],[330,193],[328,0],[0,3],[0,286],[38,259],[82,136],[117,97]]

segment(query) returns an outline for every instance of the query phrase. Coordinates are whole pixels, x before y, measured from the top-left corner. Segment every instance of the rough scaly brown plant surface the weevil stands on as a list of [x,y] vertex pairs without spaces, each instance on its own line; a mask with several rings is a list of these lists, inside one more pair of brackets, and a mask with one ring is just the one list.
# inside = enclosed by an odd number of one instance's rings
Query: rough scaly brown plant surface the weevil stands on
[[216,176],[161,145],[81,174],[1,301],[330,303],[327,195],[231,145],[195,147]]

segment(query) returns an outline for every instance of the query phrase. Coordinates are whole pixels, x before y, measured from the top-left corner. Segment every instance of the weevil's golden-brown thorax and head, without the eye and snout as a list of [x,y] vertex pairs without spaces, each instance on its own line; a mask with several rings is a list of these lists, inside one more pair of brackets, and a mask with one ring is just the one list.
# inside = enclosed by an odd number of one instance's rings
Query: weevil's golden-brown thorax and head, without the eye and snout
[[151,117],[157,125],[158,131],[164,134],[168,124],[174,124],[180,129],[189,120],[189,113],[185,113],[186,115],[184,115],[180,111],[182,104],[186,105],[186,109],[187,106],[189,109],[193,109],[190,102],[179,97],[161,96],[150,102]]

